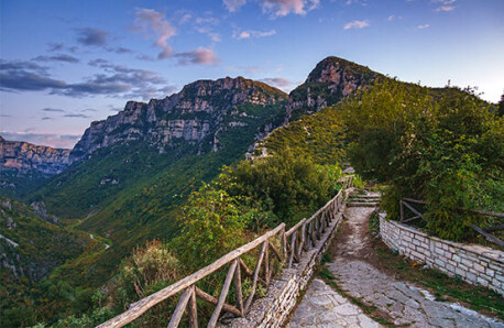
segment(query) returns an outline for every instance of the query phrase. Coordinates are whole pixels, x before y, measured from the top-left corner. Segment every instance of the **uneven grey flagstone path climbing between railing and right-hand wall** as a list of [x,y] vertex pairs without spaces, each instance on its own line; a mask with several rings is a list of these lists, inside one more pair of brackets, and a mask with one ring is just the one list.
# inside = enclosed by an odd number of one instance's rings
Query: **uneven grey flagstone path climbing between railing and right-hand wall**
[[[366,220],[373,208],[347,208],[344,236],[336,244],[336,256],[327,266],[347,294],[385,314],[396,326],[409,327],[501,327],[458,304],[436,302],[427,291],[396,281],[365,260],[370,256]],[[347,227],[344,227],[344,225]],[[293,327],[380,327],[360,308],[341,297],[320,280],[314,280],[288,324]]]

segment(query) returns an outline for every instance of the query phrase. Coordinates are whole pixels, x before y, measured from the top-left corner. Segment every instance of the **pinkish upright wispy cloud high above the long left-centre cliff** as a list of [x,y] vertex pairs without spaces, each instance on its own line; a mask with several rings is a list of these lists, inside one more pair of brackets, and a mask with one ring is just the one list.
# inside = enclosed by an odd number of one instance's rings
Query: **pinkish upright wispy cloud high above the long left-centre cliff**
[[156,34],[154,45],[161,47],[161,52],[157,54],[158,59],[164,59],[173,55],[168,40],[176,34],[176,31],[163,13],[153,9],[136,8],[134,29],[143,33],[153,31]]

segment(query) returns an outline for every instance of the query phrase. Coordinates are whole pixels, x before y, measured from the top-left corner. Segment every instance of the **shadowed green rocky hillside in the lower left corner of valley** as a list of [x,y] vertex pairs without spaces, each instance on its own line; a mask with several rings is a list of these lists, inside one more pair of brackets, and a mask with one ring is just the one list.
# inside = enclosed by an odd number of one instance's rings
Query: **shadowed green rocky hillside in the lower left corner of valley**
[[34,317],[34,308],[48,298],[39,283],[56,266],[99,247],[87,233],[46,221],[34,207],[0,198],[2,327],[11,327],[17,322],[10,321],[13,318]]

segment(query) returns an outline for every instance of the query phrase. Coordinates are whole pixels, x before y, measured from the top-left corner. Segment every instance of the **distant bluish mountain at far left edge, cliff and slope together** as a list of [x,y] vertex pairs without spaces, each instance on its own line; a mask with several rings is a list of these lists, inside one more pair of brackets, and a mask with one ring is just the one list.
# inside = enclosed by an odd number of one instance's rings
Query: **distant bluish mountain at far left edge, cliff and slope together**
[[0,136],[0,195],[22,196],[69,164],[70,150],[7,141]]

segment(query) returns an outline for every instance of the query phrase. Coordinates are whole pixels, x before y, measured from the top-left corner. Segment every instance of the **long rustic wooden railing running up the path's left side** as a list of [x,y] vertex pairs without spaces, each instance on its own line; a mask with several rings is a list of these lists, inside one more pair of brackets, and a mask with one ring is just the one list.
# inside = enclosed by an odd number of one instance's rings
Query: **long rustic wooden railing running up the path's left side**
[[[353,176],[346,177],[343,185],[349,187],[350,184],[348,181],[350,179],[351,182],[352,177]],[[200,269],[191,275],[186,276],[175,284],[132,304],[127,311],[98,327],[122,327],[139,318],[156,304],[160,304],[178,293],[182,293],[182,296],[178,299],[178,304],[174,313],[172,314],[168,327],[177,327],[186,309],[189,327],[198,327],[198,313],[196,305],[197,297],[216,306],[207,327],[216,327],[222,311],[233,316],[244,317],[254,300],[258,283],[261,283],[265,287],[270,285],[274,274],[274,261],[286,264],[288,269],[293,266],[293,263],[299,262],[303,252],[315,247],[316,242],[321,238],[327,227],[329,227],[331,221],[342,209],[343,193],[340,190],[338,195],[317,210],[317,212],[309,219],[300,220],[288,231],[285,231],[285,223],[281,223],[275,229],[270,230],[248,244],[229,252],[216,262]],[[274,238],[280,239],[280,249],[275,247],[274,242],[272,242]],[[252,271],[248,267],[241,256],[250,253],[259,247],[261,247],[261,250],[255,262],[255,267]],[[196,286],[197,282],[228,264],[228,274],[218,298],[207,294]],[[242,277],[245,275],[252,278],[252,288],[246,299],[243,299]],[[231,284],[234,284],[235,305],[226,303]]]

